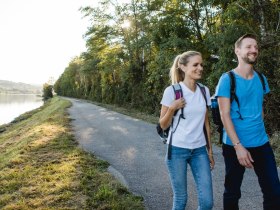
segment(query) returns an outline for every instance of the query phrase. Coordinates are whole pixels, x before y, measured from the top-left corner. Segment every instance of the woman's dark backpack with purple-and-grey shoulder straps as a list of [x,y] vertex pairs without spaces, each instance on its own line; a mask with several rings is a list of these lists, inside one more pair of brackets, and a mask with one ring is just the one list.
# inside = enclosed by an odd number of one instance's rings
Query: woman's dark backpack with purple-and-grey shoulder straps
[[[203,95],[203,98],[204,98],[205,103],[206,103],[206,108],[207,108],[207,98],[206,98],[205,87],[202,84],[200,84],[200,83],[196,83],[196,84],[199,87],[199,89],[200,89],[200,91],[201,91],[201,93]],[[178,83],[178,84],[172,85],[172,87],[173,87],[173,90],[174,90],[174,93],[175,93],[175,99],[177,100],[179,98],[182,98],[183,97],[183,91],[182,91],[182,88],[181,88],[180,84]],[[167,157],[168,157],[169,160],[171,159],[172,134],[175,133],[175,131],[176,131],[178,125],[179,125],[180,119],[181,118],[185,119],[183,111],[184,111],[184,108],[181,108],[181,114],[179,116],[179,120],[177,122],[177,125],[176,125],[175,129],[174,130],[172,129],[171,132],[170,132],[171,133],[171,137],[170,137],[170,142],[169,142],[169,145],[168,145],[168,152],[167,152]],[[174,113],[174,116],[177,114],[177,112],[178,112],[178,110],[176,110],[176,112]],[[173,116],[171,125],[167,129],[165,129],[165,130],[163,130],[160,127],[159,123],[157,124],[157,127],[156,127],[157,133],[159,134],[159,136],[162,139],[164,144],[166,144],[166,142],[167,142],[167,138],[168,138],[168,135],[169,135],[170,127],[171,126],[173,127],[174,116]],[[209,149],[208,135],[207,135],[205,124],[203,124],[203,132],[204,132],[204,135],[205,135],[206,146]]]

